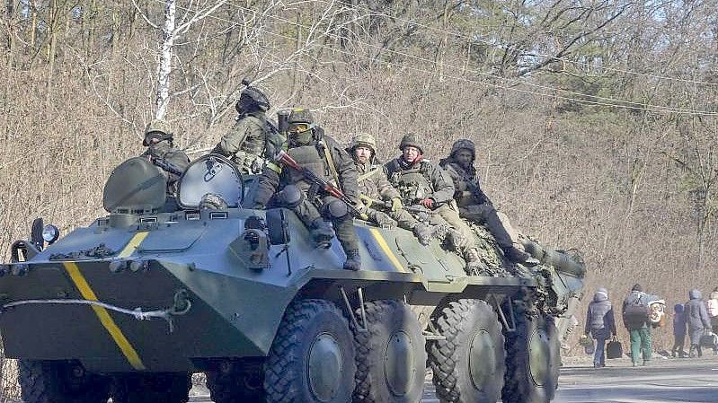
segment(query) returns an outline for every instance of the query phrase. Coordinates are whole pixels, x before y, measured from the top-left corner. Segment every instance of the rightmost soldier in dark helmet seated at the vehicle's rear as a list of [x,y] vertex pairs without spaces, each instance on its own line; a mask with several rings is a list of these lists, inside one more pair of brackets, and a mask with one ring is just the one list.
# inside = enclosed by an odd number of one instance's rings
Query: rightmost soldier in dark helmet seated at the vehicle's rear
[[523,263],[531,256],[519,240],[509,217],[493,207],[492,201],[481,189],[479,176],[474,168],[476,147],[471,140],[458,140],[451,147],[448,158],[439,162],[454,180],[454,198],[457,200],[459,215],[474,223],[484,223],[492,232],[499,246],[511,261]]

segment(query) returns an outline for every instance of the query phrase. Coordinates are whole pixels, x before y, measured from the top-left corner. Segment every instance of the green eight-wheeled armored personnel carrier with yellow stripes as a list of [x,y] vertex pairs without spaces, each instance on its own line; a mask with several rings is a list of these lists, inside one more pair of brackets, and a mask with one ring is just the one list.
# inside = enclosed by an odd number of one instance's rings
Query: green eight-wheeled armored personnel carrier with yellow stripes
[[186,402],[192,372],[217,403],[411,403],[427,363],[441,402],[553,399],[579,259],[527,242],[536,266],[513,265],[479,228],[486,276],[467,276],[438,241],[357,221],[347,271],[293,213],[245,208],[252,188],[206,156],[164,212],[163,171],[134,158],[105,185],[109,215],[60,239],[36,220],[0,266],[25,403]]

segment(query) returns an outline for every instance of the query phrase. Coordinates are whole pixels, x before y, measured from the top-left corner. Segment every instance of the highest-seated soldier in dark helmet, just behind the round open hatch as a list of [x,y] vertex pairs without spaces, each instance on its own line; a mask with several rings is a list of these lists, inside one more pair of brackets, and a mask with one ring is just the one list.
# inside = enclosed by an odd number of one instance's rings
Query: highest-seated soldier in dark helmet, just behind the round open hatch
[[[235,108],[239,115],[235,126],[219,140],[211,153],[228,157],[242,173],[259,173],[265,158],[270,158],[272,145],[279,145],[279,134],[267,121],[265,112],[270,101],[263,92],[247,85]],[[272,151],[268,151],[272,150]]]

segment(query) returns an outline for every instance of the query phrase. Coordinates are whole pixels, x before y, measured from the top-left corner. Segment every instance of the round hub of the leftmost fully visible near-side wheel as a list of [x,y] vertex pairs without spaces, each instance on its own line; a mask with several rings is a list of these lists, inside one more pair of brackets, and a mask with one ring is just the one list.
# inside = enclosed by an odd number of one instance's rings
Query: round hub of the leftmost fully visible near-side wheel
[[309,349],[307,377],[312,394],[319,401],[328,402],[337,394],[341,383],[341,348],[330,334],[321,334]]

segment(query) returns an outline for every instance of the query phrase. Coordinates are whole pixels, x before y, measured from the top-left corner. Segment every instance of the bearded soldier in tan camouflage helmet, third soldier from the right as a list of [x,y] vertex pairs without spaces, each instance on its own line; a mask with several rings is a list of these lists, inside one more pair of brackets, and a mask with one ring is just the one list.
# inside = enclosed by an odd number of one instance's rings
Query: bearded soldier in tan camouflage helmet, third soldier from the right
[[[372,136],[360,134],[351,139],[348,149],[359,174],[359,198],[364,202],[367,221],[380,226],[398,226],[416,235],[422,245],[431,241],[432,230],[403,209],[402,197],[388,180],[386,168],[374,162],[377,144]],[[385,204],[385,201],[388,202]],[[388,205],[388,206],[387,206]]]

